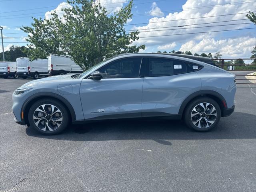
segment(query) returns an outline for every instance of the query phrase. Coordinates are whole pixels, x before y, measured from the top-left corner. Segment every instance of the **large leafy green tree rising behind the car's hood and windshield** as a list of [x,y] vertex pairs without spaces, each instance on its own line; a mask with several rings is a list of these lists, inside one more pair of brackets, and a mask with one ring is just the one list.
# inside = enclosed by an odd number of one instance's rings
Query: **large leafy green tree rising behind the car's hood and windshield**
[[86,70],[88,67],[116,54],[139,52],[145,45],[132,45],[139,32],[126,33],[124,24],[132,18],[133,2],[112,14],[94,0],[67,0],[71,8],[62,8],[58,18],[34,19],[32,27],[21,29],[30,33],[29,57],[34,60],[54,55],[65,55]]

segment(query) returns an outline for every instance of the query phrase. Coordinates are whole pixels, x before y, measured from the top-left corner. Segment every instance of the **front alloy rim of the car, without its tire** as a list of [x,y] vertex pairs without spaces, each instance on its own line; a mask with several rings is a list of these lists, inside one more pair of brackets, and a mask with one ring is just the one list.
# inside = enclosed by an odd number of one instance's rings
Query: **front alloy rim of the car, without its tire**
[[33,119],[39,129],[54,131],[62,124],[62,112],[52,104],[43,104],[36,108]]

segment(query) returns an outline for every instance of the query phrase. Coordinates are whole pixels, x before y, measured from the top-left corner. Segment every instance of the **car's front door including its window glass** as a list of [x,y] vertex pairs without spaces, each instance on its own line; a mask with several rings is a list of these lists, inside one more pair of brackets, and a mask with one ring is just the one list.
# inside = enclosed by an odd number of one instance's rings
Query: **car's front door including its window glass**
[[141,118],[141,62],[141,57],[116,60],[98,70],[102,79],[82,80],[80,98],[85,120]]

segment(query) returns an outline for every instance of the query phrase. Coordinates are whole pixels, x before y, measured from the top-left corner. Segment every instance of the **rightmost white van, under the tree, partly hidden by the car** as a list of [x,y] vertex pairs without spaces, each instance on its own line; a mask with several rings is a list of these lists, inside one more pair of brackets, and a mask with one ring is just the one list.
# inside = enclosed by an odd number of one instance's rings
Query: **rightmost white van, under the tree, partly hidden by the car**
[[64,75],[82,72],[84,72],[82,68],[68,57],[55,55],[50,55],[48,57],[48,74],[50,75]]

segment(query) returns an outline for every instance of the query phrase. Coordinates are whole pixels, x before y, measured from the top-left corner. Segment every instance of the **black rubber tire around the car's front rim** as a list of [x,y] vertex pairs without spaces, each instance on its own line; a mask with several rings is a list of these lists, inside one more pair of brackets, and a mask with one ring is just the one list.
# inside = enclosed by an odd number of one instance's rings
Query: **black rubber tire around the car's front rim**
[[[40,129],[38,126],[36,126],[36,124],[34,122],[34,118],[33,118],[34,112],[39,106],[41,106],[43,104],[52,104],[52,105],[54,105],[55,107],[57,107],[60,110],[60,112],[62,114],[62,122],[61,122],[60,126],[58,128],[56,128],[55,130],[52,130],[52,131],[45,130],[44,131],[44,130]],[[47,106],[46,106],[46,108],[47,108]],[[68,123],[70,121],[70,116],[69,116],[68,110],[66,109],[66,107],[62,103],[60,103],[60,102],[58,102],[57,100],[54,100],[54,99],[42,99],[42,100],[36,101],[30,107],[30,110],[28,112],[28,121],[30,123],[30,126],[32,128],[34,128],[35,130],[37,130],[38,132],[40,132],[41,134],[54,135],[54,134],[58,134],[58,133],[62,132],[65,128],[67,128]]]

